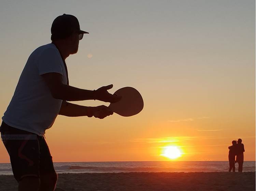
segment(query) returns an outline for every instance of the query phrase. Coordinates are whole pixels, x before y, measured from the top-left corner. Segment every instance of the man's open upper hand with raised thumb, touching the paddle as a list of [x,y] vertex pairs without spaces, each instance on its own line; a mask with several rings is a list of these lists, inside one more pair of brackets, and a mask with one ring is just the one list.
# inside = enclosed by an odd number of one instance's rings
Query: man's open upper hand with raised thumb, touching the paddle
[[112,95],[107,90],[113,88],[113,84],[108,86],[102,86],[96,90],[96,99],[103,102],[115,103],[121,100],[122,96]]

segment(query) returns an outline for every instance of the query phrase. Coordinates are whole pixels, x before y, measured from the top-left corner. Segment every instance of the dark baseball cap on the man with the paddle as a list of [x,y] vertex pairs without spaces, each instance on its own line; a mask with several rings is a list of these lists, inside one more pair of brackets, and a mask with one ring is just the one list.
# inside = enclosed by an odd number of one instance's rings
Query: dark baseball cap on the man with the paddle
[[63,14],[56,17],[51,27],[51,39],[66,38],[72,32],[78,31],[80,34],[88,34],[89,32],[80,29],[79,21],[74,15]]

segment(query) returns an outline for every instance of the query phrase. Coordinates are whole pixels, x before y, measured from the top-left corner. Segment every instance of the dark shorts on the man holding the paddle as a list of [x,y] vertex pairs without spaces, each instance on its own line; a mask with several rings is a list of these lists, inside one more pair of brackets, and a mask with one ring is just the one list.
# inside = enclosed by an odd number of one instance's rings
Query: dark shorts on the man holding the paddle
[[10,156],[14,178],[55,173],[53,160],[43,136],[11,127],[2,121],[1,139]]

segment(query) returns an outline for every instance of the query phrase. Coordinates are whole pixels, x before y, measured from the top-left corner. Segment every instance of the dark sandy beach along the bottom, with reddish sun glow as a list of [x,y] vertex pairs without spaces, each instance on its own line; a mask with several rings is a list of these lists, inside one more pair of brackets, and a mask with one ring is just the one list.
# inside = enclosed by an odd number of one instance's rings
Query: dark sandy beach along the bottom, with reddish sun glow
[[[245,173],[63,173],[56,188],[65,191],[255,191],[255,172]],[[1,191],[17,191],[11,175],[0,176]],[[60,189],[59,189],[60,190]]]

